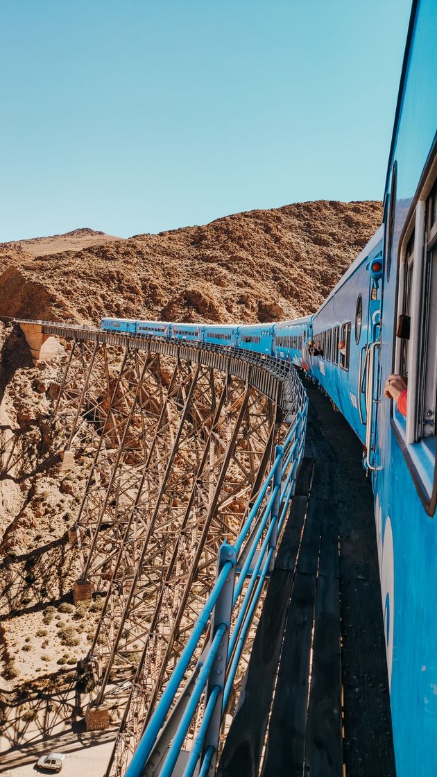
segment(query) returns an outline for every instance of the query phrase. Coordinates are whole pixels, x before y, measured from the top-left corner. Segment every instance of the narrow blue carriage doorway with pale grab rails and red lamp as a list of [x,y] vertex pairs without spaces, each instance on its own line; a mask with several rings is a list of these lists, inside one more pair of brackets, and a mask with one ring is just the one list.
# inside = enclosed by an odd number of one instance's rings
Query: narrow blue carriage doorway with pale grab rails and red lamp
[[[377,246],[379,248],[379,246]],[[365,343],[360,351],[358,369],[358,411],[365,425],[365,467],[376,469],[376,427],[381,383],[379,354],[381,348],[381,291],[383,251],[374,253],[366,266],[369,271],[369,295]],[[363,317],[362,298],[358,295],[355,312],[355,337]]]

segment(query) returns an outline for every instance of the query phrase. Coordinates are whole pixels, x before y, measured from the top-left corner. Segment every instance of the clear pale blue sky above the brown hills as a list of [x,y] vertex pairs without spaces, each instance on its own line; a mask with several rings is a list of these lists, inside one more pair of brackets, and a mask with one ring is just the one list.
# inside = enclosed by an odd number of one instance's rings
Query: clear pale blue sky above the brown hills
[[2,0],[0,241],[381,199],[411,0]]

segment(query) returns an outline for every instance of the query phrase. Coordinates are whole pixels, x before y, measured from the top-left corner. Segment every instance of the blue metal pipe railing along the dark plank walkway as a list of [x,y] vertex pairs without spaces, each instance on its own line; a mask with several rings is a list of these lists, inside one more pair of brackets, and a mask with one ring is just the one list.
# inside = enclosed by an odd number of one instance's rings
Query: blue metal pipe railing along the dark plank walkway
[[[187,734],[192,737],[193,730],[196,733],[191,750],[184,764],[178,765],[178,774],[192,777],[196,773],[205,777],[215,769],[222,718],[294,491],[305,444],[307,409],[308,399],[300,385],[295,395],[295,419],[283,443],[276,447],[274,464],[235,544],[223,543],[219,550],[215,585],[138,744],[126,777],[173,775]],[[200,650],[201,636],[208,627],[208,645],[187,678],[187,671]]]

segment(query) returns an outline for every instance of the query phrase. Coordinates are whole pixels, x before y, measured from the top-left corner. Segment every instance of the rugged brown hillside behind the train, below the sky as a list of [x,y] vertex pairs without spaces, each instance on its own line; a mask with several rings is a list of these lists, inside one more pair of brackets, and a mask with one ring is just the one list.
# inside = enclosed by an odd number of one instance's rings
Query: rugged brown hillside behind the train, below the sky
[[381,221],[320,200],[124,240],[79,229],[0,244],[0,315],[254,322],[313,312]]

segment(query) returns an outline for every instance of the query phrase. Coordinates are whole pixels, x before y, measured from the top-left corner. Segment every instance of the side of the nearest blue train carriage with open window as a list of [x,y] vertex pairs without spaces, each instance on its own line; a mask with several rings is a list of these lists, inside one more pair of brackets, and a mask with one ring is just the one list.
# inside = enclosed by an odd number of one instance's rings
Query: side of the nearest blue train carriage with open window
[[[372,482],[398,777],[437,775],[436,16],[435,0],[415,6],[384,216]],[[407,379],[405,418],[383,396],[392,372]]]

